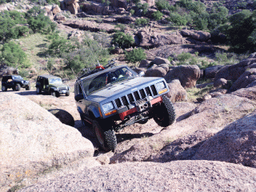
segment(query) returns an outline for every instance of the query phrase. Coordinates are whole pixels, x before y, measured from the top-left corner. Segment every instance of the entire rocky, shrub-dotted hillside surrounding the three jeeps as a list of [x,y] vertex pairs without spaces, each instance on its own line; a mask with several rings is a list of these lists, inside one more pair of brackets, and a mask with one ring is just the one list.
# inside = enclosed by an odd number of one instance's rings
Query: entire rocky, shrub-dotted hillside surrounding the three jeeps
[[[31,83],[0,93],[1,191],[254,191],[254,1],[0,3],[0,78]],[[112,58],[165,78],[176,121],[127,126],[106,153],[74,82]],[[70,96],[37,94],[40,74],[62,77]]]

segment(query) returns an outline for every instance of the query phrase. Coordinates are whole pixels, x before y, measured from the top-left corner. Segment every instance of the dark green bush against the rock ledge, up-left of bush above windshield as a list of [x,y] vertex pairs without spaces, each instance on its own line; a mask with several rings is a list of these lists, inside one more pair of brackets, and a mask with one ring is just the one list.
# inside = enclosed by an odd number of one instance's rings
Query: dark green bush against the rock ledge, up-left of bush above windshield
[[134,38],[130,34],[125,34],[121,31],[118,31],[117,33],[114,34],[114,37],[112,39],[112,44],[117,44],[122,48],[129,48],[134,44]]

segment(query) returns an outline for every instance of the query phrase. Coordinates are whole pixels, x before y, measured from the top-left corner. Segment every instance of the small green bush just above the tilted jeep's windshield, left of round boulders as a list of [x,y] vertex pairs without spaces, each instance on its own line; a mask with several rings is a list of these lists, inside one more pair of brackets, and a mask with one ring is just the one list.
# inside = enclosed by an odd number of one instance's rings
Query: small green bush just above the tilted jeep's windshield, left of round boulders
[[126,61],[128,63],[133,63],[136,66],[137,62],[141,62],[143,59],[146,59],[146,53],[142,48],[133,49],[130,52],[126,51]]

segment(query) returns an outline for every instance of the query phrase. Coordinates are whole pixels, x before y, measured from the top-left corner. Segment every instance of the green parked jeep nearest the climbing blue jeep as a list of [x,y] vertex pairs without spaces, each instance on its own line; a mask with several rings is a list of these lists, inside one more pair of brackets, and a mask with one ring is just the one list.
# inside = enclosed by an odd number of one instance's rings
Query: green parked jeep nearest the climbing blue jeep
[[36,86],[37,94],[42,91],[58,97],[60,94],[70,95],[70,87],[62,83],[62,78],[50,74],[43,74],[38,76]]

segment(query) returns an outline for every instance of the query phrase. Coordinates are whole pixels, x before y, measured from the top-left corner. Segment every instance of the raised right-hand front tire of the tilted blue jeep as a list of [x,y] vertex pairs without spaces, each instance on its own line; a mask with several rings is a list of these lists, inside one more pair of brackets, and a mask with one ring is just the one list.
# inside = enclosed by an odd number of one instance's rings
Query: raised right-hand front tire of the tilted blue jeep
[[162,127],[170,126],[174,123],[176,118],[174,106],[165,95],[162,95],[161,105],[154,106],[153,118],[158,123],[158,126]]

